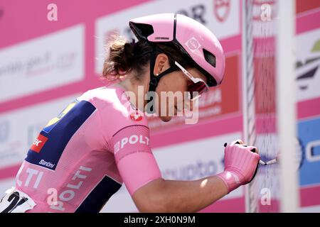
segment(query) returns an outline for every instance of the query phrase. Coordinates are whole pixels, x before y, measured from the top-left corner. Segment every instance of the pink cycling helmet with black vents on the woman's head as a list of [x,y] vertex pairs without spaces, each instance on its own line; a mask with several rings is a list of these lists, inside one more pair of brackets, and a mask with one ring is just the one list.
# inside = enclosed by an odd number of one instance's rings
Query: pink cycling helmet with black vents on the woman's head
[[138,40],[173,43],[207,77],[209,87],[222,82],[225,72],[223,48],[203,24],[181,14],[161,13],[134,18],[129,26]]

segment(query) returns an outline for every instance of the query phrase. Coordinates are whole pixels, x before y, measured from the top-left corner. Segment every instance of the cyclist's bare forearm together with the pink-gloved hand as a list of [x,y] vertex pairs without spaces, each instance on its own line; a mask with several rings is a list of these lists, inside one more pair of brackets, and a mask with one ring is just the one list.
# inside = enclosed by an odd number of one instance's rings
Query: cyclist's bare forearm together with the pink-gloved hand
[[196,181],[154,179],[137,189],[132,198],[142,212],[199,211],[249,183],[259,165],[257,153],[257,148],[234,141],[225,148],[224,172]]

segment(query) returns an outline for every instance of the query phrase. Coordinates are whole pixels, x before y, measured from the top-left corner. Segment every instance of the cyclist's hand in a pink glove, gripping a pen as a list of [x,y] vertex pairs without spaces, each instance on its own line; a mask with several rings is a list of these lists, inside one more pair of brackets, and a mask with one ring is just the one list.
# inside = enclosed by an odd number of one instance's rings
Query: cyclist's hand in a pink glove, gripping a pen
[[260,155],[258,149],[247,146],[242,140],[225,144],[225,170],[217,175],[225,182],[228,193],[252,181],[257,172]]

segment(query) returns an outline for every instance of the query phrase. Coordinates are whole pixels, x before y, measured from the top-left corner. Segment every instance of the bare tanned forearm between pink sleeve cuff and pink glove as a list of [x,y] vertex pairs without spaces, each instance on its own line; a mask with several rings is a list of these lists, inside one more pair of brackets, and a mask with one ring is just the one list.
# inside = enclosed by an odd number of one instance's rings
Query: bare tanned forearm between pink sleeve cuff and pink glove
[[155,179],[132,196],[141,212],[196,212],[228,194],[219,177],[194,181]]

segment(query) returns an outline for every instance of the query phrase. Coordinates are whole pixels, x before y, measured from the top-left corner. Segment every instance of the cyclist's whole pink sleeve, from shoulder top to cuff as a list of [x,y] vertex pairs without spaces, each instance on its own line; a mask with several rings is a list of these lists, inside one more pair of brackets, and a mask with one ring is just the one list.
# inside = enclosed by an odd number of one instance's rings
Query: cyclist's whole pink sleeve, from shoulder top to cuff
[[129,102],[123,91],[115,89],[114,92],[104,95],[110,99],[110,104],[99,100],[95,100],[95,104],[101,118],[102,135],[132,195],[148,182],[161,178],[161,172],[149,146],[146,116]]

